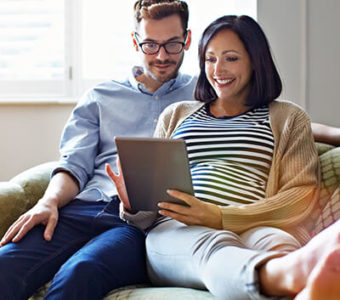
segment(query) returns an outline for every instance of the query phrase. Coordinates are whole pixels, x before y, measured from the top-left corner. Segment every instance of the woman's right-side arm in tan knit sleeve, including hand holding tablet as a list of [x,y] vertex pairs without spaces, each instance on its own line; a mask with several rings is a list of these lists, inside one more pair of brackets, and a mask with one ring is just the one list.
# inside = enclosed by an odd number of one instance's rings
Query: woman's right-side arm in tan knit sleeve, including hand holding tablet
[[277,136],[266,198],[254,204],[218,207],[178,193],[176,197],[191,207],[162,203],[162,209],[172,212],[163,210],[161,214],[188,225],[222,227],[235,233],[256,226],[288,228],[300,223],[311,213],[318,196],[319,158],[307,115],[298,112],[290,126],[287,124],[284,129],[276,128],[281,134]]

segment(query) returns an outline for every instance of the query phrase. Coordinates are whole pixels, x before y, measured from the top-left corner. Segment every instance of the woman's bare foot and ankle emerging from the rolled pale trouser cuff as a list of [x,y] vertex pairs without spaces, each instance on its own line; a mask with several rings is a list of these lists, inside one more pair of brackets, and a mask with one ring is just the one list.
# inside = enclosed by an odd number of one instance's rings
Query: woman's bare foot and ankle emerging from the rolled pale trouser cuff
[[[311,293],[317,295],[316,290],[319,289],[318,286],[321,285],[321,281],[316,278],[320,278],[318,274],[321,271],[323,274],[326,270],[329,270],[329,261],[334,263],[336,260],[334,257],[340,256],[340,254],[334,254],[338,253],[339,249],[340,220],[316,235],[304,247],[265,263],[259,270],[263,292],[273,296],[297,295],[300,292],[300,297],[305,294],[309,294],[308,297],[310,297]],[[320,261],[324,262],[324,265],[318,265]],[[318,267],[316,267],[317,265]],[[340,257],[337,267],[340,268]],[[315,273],[313,273],[314,269]],[[312,273],[314,277],[312,277]],[[304,290],[307,285],[308,291]],[[308,297],[301,299],[312,299]],[[323,299],[328,300],[328,298]]]

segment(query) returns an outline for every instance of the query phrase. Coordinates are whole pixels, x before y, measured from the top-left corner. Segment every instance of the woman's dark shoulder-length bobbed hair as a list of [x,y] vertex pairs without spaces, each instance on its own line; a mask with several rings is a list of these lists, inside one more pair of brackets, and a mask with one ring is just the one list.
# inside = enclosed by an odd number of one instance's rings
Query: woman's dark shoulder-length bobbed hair
[[225,29],[230,29],[238,35],[250,57],[253,74],[245,104],[260,107],[272,102],[281,94],[282,82],[265,34],[260,25],[249,16],[220,17],[203,32],[198,46],[200,74],[195,88],[196,100],[210,102],[217,99],[205,74],[205,52],[211,39]]

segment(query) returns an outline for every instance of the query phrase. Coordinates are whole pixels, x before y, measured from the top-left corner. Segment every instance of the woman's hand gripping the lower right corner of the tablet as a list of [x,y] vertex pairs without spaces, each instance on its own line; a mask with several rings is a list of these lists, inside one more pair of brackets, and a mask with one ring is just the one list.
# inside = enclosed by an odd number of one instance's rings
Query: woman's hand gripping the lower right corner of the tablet
[[159,213],[187,225],[202,225],[215,229],[222,229],[221,209],[212,203],[198,200],[194,196],[175,190],[168,190],[168,194],[174,198],[186,202],[189,207],[170,203],[160,202]]

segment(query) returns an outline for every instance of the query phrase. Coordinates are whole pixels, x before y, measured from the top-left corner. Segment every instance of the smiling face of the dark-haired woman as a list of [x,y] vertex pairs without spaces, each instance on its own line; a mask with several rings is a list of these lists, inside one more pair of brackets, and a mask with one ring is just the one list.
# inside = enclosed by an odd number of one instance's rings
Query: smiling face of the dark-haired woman
[[205,73],[218,99],[245,103],[252,67],[248,52],[232,30],[220,31],[209,42]]

